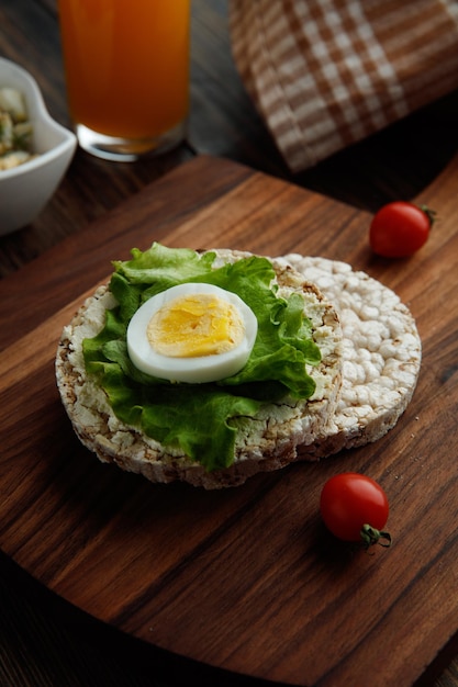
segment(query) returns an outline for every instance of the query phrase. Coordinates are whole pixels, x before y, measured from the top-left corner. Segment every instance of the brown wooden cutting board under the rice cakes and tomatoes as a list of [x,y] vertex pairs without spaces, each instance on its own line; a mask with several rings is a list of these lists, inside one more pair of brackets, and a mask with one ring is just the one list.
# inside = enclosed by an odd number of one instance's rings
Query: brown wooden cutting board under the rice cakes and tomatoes
[[[458,630],[458,158],[422,194],[439,215],[409,260],[375,258],[367,213],[201,157],[0,283],[0,545],[71,604],[178,654],[292,685],[410,685]],[[62,327],[111,260],[153,240],[345,260],[399,293],[424,359],[379,442],[205,493],[100,464],[60,406]],[[386,488],[373,555],[319,515],[332,474]]]

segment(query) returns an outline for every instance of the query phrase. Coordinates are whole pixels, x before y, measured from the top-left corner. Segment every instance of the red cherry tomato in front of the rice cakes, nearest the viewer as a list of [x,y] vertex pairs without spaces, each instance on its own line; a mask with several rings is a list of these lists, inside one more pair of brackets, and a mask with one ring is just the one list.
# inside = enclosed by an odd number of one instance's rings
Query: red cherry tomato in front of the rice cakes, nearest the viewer
[[389,514],[387,494],[371,477],[355,472],[334,475],[323,487],[320,509],[327,529],[338,539],[360,541],[366,548],[391,544],[390,534],[382,531]]

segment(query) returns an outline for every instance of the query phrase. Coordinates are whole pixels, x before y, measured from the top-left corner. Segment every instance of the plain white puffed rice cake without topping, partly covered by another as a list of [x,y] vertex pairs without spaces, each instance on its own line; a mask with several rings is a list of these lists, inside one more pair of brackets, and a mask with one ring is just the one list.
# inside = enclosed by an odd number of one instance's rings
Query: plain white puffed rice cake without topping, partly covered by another
[[301,458],[324,458],[380,439],[405,410],[416,386],[422,342],[399,296],[365,272],[325,258],[284,256],[335,305],[340,318],[343,384],[332,423]]

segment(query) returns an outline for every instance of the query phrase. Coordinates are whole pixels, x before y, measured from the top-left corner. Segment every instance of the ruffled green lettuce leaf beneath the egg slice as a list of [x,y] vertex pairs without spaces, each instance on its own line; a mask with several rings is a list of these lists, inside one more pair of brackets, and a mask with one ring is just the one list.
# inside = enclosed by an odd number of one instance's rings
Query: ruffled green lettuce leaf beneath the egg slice
[[[118,306],[107,311],[100,334],[83,341],[86,370],[97,375],[116,417],[139,427],[165,447],[179,448],[212,471],[234,461],[237,424],[265,404],[287,396],[309,398],[315,384],[306,364],[321,360],[303,316],[303,299],[277,295],[267,258],[248,257],[213,269],[215,254],[200,255],[153,244],[132,259],[114,262],[110,290]],[[138,307],[156,293],[185,282],[205,282],[236,293],[258,319],[258,336],[246,365],[208,384],[171,383],[131,362],[126,329]]]

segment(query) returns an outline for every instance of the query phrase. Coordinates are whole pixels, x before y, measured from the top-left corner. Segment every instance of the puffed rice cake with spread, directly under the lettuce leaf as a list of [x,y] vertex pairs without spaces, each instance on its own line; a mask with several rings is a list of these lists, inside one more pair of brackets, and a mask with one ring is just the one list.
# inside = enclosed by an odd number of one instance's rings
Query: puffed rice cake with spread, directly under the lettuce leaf
[[[247,257],[219,250],[214,267]],[[342,384],[342,329],[335,308],[303,275],[283,261],[272,260],[279,295],[300,292],[305,314],[312,322],[313,337],[321,348],[322,362],[309,372],[316,391],[308,401],[286,399],[264,407],[254,419],[239,420],[235,460],[225,470],[205,472],[180,451],[163,447],[136,427],[121,423],[105,395],[86,374],[82,340],[103,326],[105,309],[115,301],[101,286],[86,301],[64,328],[57,356],[56,380],[63,404],[81,442],[102,462],[113,462],[126,471],[141,473],[152,482],[180,480],[204,488],[243,484],[257,472],[278,470],[298,458],[298,446],[308,446],[326,431],[334,416]]]

